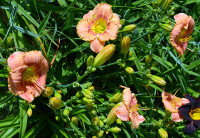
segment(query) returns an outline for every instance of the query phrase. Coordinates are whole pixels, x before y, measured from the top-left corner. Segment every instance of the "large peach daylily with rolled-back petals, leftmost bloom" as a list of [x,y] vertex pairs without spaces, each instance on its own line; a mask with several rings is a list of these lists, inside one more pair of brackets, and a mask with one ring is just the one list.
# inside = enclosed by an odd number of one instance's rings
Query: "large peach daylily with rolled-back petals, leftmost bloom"
[[28,102],[41,95],[49,66],[40,51],[15,52],[8,58],[8,66],[8,88],[14,95]]

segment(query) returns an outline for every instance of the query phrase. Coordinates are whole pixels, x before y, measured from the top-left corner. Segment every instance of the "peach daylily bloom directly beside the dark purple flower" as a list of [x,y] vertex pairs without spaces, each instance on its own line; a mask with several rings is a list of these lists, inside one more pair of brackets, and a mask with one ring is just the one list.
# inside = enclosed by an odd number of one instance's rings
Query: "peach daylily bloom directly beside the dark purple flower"
[[173,121],[180,122],[183,120],[184,117],[180,115],[178,108],[189,103],[189,100],[176,97],[175,95],[167,93],[165,90],[163,90],[162,102],[165,106],[165,109],[172,113],[171,117]]

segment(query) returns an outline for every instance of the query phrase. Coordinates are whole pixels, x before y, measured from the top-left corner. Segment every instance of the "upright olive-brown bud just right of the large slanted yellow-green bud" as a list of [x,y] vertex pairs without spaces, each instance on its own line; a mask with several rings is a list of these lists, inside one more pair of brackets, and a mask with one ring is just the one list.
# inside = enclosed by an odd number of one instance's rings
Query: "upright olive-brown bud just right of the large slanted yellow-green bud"
[[130,37],[129,36],[125,36],[122,39],[122,42],[121,42],[121,50],[122,50],[122,54],[124,56],[124,59],[126,58],[126,56],[128,54],[130,45],[131,45],[131,39],[130,39]]

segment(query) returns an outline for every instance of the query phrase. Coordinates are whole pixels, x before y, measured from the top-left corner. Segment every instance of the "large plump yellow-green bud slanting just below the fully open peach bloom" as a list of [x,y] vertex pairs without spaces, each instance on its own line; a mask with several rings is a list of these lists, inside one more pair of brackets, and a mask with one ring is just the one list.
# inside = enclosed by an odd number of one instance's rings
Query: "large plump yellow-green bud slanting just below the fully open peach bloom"
[[103,65],[106,61],[108,61],[111,58],[111,56],[114,54],[115,48],[116,46],[113,44],[109,44],[105,46],[104,48],[102,48],[101,51],[95,57],[93,66],[99,67]]

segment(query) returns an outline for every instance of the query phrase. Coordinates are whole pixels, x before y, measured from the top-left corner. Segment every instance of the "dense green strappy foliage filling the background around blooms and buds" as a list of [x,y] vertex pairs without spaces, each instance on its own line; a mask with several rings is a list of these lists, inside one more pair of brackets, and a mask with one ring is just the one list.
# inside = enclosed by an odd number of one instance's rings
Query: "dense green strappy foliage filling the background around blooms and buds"
[[[114,13],[125,19],[120,28],[135,24],[131,32],[120,32],[116,40],[107,44],[116,45],[113,56],[104,65],[94,68],[86,65],[89,56],[96,57],[90,50],[90,43],[81,40],[76,25],[83,15],[98,3],[112,5]],[[188,137],[183,133],[185,121],[163,121],[165,108],[161,93],[175,93],[178,97],[200,94],[200,3],[197,0],[173,1],[167,11],[155,6],[155,0],[1,0],[0,1],[0,137],[92,137],[104,132],[103,137],[159,137],[158,130],[165,129],[169,137]],[[173,23],[173,16],[186,13],[193,17],[195,28],[188,49],[182,57],[169,42],[169,32],[159,23]],[[121,53],[121,40],[129,36],[131,45],[127,58]],[[31,103],[33,114],[27,116],[30,103],[14,96],[8,90],[8,57],[16,51],[42,51],[52,65],[47,74],[47,86],[54,95],[59,93],[64,106],[54,110],[49,106],[51,97],[38,97]],[[147,55],[152,61],[145,64]],[[128,74],[131,67],[134,74]],[[152,82],[146,74],[163,78],[166,86]],[[131,122],[114,122],[107,125],[107,115],[118,102],[109,102],[116,93],[122,93],[120,85],[131,88],[141,108],[138,112],[145,121],[138,129],[131,128]],[[93,89],[94,88],[94,89]],[[94,96],[85,97],[81,92],[90,89]],[[80,92],[79,95],[77,92]],[[122,101],[122,99],[120,99]],[[64,115],[63,111],[69,110]],[[78,118],[78,125],[71,121]],[[94,117],[100,123],[92,125]],[[118,127],[119,133],[109,132]],[[197,130],[192,137],[200,137]]]

